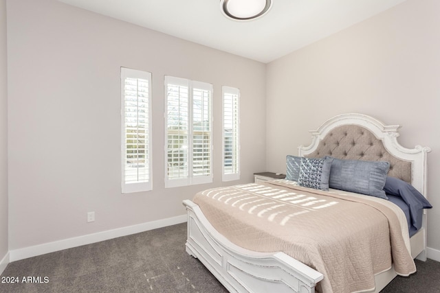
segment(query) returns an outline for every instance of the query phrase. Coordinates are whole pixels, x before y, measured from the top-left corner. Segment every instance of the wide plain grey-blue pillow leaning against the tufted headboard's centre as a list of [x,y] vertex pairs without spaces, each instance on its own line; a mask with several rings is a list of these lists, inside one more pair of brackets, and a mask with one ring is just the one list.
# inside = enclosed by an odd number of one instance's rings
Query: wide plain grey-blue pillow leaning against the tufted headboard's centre
[[[331,158],[326,156],[326,158]],[[333,158],[329,187],[388,200],[384,185],[390,163]]]

